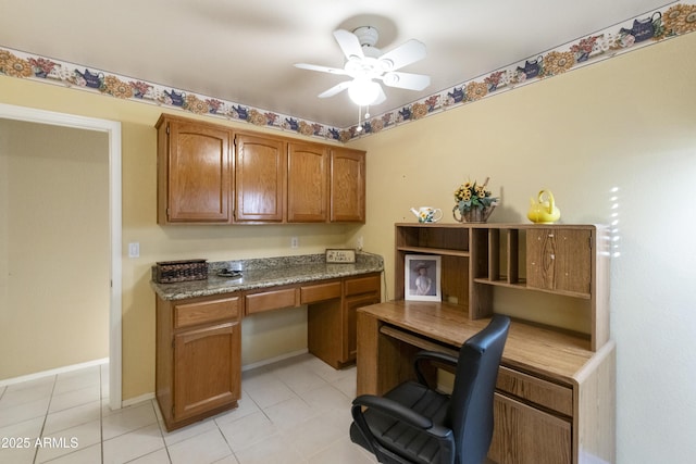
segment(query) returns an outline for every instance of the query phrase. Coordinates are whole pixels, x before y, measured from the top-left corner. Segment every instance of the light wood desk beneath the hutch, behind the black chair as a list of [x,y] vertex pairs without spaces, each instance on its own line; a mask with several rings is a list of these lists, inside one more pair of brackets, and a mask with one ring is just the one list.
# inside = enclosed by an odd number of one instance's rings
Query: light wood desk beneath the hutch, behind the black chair
[[[358,394],[413,376],[421,349],[456,351],[483,329],[461,306],[390,301],[358,311]],[[513,322],[502,353],[488,457],[510,464],[614,462],[616,349]]]

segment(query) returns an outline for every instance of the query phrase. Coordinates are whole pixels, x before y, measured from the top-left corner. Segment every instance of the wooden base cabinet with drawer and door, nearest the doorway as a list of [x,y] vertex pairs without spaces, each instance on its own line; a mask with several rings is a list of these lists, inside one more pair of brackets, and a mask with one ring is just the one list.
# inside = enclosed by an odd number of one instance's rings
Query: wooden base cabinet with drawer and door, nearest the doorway
[[157,400],[167,430],[236,407],[241,397],[240,299],[157,300]]

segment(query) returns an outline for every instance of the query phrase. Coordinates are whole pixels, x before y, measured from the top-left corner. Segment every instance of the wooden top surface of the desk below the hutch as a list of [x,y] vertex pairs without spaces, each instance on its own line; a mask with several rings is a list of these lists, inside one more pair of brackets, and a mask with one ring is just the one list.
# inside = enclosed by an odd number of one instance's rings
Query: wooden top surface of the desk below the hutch
[[[451,348],[461,347],[489,322],[472,321],[462,308],[437,302],[388,301],[358,311]],[[501,364],[574,385],[595,354],[589,341],[581,336],[513,321]]]

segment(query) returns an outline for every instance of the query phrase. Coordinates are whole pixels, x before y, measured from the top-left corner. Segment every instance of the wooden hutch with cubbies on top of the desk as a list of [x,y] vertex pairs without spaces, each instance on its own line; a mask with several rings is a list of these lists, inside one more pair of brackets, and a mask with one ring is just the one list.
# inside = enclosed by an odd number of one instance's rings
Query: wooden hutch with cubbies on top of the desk
[[439,255],[443,301],[470,319],[496,312],[497,287],[537,292],[524,299],[542,303],[534,311],[554,294],[586,313],[596,351],[609,339],[607,235],[599,225],[396,224],[396,298],[406,294],[406,255]]

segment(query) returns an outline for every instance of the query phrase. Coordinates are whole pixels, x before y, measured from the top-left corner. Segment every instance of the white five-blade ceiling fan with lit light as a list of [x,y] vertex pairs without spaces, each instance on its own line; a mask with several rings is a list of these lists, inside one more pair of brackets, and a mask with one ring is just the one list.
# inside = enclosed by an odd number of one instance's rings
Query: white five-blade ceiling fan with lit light
[[296,67],[352,77],[319,95],[319,98],[333,97],[348,90],[350,99],[360,106],[382,103],[386,96],[377,80],[387,87],[409,90],[423,90],[431,84],[430,76],[402,73],[397,70],[425,58],[425,45],[411,39],[386,53],[374,47],[380,34],[371,26],[362,26],[352,33],[338,29],[334,37],[346,55],[344,68],[326,67],[315,64],[297,63]]

